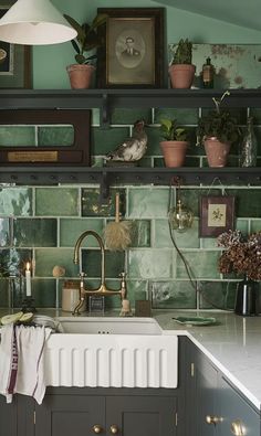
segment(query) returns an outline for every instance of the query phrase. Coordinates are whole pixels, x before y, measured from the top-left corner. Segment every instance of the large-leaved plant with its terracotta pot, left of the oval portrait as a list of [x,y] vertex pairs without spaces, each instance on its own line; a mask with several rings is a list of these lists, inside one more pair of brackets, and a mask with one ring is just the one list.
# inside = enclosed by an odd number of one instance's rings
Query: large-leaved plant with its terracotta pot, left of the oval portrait
[[67,22],[77,32],[75,40],[72,40],[73,49],[75,50],[76,64],[67,66],[67,73],[73,89],[85,89],[90,87],[91,78],[95,70],[93,61],[97,57],[95,53],[85,55],[87,52],[93,52],[102,45],[103,41],[97,32],[100,25],[106,22],[107,15],[97,14],[91,24],[80,24],[72,17],[64,14]]

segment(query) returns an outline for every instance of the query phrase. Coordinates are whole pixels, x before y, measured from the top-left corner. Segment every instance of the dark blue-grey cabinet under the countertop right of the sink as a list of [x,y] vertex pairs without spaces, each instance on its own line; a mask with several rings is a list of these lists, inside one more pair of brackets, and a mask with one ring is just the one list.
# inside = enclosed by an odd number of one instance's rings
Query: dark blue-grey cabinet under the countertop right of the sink
[[186,348],[186,436],[260,436],[259,411],[191,341]]

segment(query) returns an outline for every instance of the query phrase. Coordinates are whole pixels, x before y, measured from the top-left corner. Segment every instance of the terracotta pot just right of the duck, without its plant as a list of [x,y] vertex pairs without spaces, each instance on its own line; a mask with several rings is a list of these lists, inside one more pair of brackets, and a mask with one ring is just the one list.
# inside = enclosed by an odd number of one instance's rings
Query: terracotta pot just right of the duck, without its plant
[[160,147],[166,167],[182,167],[188,148],[187,141],[161,141]]

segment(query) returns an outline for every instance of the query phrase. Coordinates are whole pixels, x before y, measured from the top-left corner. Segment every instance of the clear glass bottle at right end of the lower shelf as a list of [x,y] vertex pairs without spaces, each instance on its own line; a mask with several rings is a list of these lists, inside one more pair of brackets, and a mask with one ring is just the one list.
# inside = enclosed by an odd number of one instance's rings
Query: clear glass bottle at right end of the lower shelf
[[253,118],[248,117],[247,131],[241,145],[240,167],[255,167],[258,141],[253,131]]

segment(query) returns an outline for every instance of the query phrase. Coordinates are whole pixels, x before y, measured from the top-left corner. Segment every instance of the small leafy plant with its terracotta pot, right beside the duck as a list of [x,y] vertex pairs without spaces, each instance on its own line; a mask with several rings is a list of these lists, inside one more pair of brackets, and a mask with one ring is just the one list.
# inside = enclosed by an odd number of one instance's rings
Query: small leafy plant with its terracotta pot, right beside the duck
[[188,148],[187,130],[177,125],[176,119],[164,118],[160,120],[160,141],[166,167],[181,167],[185,162]]

